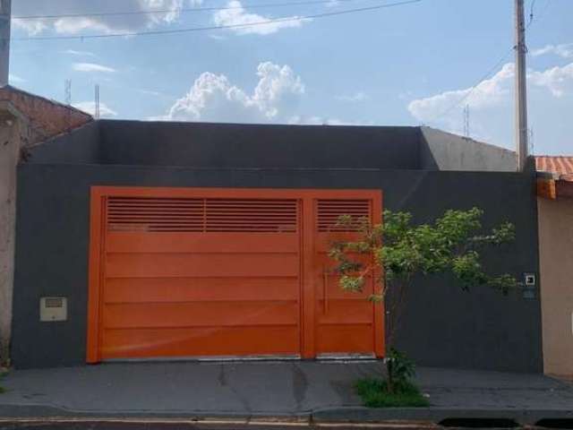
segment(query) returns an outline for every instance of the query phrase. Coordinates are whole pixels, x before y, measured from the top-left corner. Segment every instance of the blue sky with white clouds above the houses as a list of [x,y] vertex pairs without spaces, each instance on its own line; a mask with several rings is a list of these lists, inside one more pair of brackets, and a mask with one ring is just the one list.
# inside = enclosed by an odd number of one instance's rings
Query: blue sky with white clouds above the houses
[[[98,84],[117,119],[461,134],[467,107],[471,137],[513,149],[514,1],[404,1],[13,0],[10,83],[64,101],[71,80],[90,113]],[[531,150],[573,155],[573,0],[526,15]]]

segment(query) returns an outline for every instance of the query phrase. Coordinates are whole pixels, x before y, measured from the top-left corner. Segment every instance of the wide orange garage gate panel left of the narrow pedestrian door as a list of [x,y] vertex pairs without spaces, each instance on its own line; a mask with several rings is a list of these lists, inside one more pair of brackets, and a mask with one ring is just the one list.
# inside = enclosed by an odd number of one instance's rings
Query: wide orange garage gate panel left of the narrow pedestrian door
[[299,202],[150,193],[105,197],[99,359],[300,354]]

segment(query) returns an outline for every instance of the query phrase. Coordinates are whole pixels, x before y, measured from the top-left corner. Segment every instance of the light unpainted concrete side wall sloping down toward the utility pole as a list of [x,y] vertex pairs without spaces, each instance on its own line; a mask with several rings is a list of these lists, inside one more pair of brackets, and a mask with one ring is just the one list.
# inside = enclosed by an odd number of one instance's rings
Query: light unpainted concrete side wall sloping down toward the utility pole
[[492,172],[517,170],[517,156],[511,150],[430,127],[420,127],[420,130],[420,168]]

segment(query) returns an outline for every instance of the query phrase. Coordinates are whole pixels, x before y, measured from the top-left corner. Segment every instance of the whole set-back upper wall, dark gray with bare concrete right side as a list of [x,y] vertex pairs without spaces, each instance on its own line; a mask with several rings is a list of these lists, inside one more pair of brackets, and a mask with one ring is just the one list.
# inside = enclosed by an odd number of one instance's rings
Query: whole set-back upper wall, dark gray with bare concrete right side
[[429,127],[100,120],[32,151],[32,162],[193,168],[515,171],[516,154]]

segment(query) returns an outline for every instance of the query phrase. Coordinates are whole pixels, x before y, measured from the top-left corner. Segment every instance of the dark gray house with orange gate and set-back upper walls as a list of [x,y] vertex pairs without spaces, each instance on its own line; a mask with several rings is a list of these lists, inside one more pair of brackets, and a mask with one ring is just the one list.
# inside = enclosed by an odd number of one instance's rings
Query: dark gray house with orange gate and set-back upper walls
[[[426,127],[83,125],[18,168],[13,364],[381,357],[381,305],[329,275],[338,215],[478,206],[485,227],[517,228],[488,269],[522,279],[538,271],[535,169],[515,167]],[[541,372],[526,293],[417,280],[397,346],[424,366]]]

